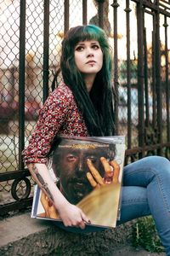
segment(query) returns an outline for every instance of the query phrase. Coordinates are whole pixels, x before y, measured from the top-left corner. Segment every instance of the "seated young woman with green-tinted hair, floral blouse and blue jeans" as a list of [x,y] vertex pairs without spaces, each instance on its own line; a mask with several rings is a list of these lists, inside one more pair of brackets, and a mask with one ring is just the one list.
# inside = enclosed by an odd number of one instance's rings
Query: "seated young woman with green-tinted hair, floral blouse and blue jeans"
[[[105,32],[93,25],[71,28],[62,43],[60,66],[64,81],[42,107],[24,159],[32,177],[54,203],[64,226],[85,229],[88,216],[60,193],[46,163],[56,136],[114,135],[111,51]],[[170,162],[163,157],[146,157],[125,166],[119,222],[152,214],[167,255],[169,184]]]

